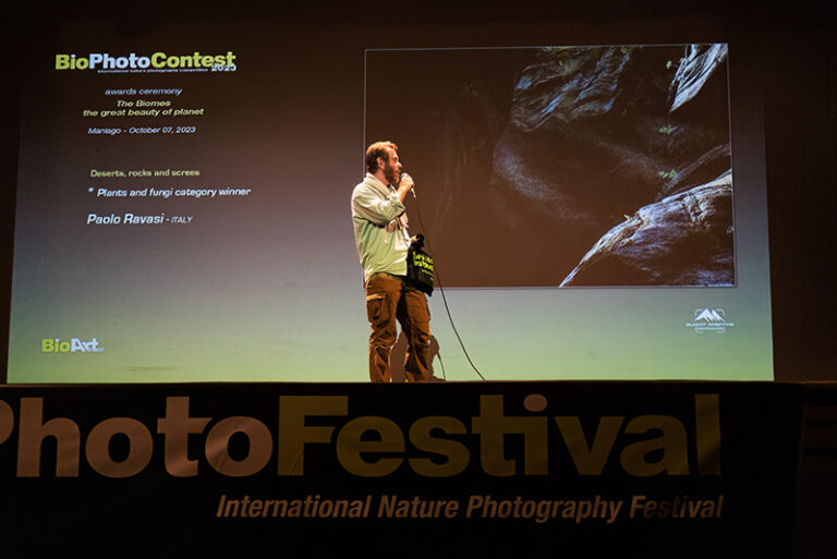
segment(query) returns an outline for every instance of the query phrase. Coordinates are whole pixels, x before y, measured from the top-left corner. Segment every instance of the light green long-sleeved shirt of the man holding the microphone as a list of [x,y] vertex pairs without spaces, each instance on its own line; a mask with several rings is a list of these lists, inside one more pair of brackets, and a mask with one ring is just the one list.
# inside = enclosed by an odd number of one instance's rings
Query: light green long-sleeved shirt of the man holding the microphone
[[407,215],[392,186],[366,173],[352,192],[352,222],[364,284],[373,274],[407,276]]

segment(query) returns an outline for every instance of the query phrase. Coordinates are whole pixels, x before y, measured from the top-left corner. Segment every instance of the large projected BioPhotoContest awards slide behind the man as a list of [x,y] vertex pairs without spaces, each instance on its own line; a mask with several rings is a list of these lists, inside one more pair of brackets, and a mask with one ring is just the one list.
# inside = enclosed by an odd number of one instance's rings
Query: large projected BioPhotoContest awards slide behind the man
[[477,379],[449,309],[488,380],[772,378],[727,45],[401,47],[205,23],[32,49],[9,381],[366,381],[349,200],[378,139],[445,288],[436,376]]

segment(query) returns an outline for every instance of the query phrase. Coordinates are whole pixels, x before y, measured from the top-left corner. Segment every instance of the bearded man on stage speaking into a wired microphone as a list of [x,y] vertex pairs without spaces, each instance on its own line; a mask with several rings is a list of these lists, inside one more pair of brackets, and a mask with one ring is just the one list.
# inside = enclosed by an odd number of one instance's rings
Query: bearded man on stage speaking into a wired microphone
[[404,372],[410,382],[438,380],[430,373],[430,313],[424,293],[407,280],[404,197],[413,180],[401,173],[398,146],[376,142],[366,149],[366,177],[352,192],[354,241],[366,287],[369,377],[389,382],[389,352],[396,343],[396,320],[407,336]]

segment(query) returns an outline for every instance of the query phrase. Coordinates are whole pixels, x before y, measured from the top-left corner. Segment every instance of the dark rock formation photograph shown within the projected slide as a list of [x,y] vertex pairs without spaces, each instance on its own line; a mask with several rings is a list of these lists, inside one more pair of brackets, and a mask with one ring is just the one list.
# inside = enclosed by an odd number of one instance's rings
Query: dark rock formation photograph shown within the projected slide
[[727,56],[372,50],[366,139],[399,145],[445,287],[735,285]]

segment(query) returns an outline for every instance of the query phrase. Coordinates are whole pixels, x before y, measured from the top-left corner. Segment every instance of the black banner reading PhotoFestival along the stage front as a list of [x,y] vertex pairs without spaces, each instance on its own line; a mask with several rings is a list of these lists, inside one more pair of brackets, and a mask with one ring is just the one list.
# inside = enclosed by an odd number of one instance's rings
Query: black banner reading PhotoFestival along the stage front
[[786,557],[803,388],[0,387],[9,557]]

